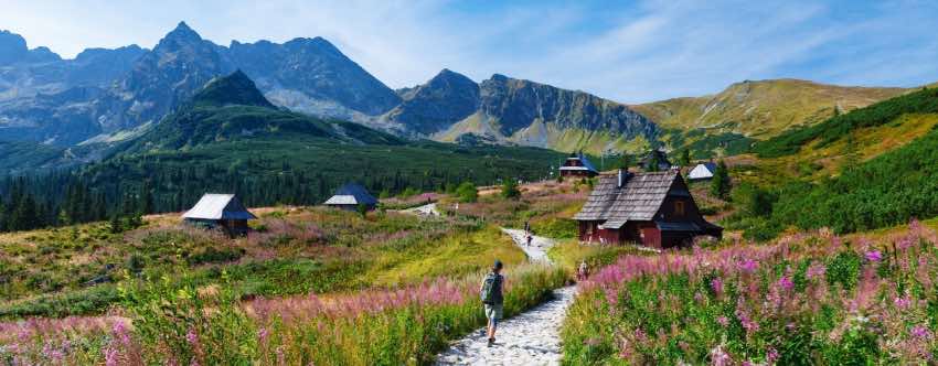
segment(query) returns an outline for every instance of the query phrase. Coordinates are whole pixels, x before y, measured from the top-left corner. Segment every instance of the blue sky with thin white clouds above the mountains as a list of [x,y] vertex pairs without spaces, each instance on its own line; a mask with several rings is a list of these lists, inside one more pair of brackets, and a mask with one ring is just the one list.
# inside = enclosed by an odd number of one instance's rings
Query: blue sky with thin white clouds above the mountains
[[938,82],[938,1],[9,1],[0,30],[63,57],[151,49],[180,21],[202,37],[322,36],[392,88],[443,68],[621,103],[718,93],[745,79],[856,86]]

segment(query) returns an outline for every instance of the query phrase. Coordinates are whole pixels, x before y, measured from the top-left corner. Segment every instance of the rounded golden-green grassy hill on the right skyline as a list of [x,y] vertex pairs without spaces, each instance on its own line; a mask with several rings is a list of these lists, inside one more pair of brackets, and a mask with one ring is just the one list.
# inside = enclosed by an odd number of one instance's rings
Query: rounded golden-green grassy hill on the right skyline
[[632,106],[658,123],[672,149],[697,158],[733,155],[753,142],[905,93],[903,88],[824,85],[799,79],[746,80],[723,92]]

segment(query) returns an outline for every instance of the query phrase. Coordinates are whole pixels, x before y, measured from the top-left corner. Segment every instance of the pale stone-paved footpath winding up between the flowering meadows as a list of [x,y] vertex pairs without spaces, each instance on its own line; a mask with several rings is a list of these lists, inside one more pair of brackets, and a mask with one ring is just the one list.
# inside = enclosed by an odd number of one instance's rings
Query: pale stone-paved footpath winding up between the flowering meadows
[[[527,247],[524,230],[502,230],[514,239],[531,261],[551,263],[546,250],[554,240],[535,236]],[[437,365],[558,365],[562,356],[559,326],[574,295],[574,286],[555,290],[553,300],[502,321],[495,333],[495,345],[491,348],[486,344],[484,329],[472,332],[437,355]]]

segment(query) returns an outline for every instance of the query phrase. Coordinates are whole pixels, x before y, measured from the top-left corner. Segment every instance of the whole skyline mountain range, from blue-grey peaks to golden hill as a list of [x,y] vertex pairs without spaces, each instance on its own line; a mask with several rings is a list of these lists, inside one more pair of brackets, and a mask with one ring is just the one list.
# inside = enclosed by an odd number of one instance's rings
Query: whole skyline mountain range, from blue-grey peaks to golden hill
[[906,92],[779,79],[630,106],[500,74],[477,83],[449,69],[394,90],[322,37],[223,46],[181,22],[152,50],[89,49],[63,60],[3,31],[0,149],[23,151],[33,143],[49,152],[50,164],[94,160],[103,149],[154,128],[207,83],[235,71],[256,83],[265,100],[292,112],[408,139],[591,153],[661,142],[672,149],[696,143],[712,150],[726,141],[747,148]]

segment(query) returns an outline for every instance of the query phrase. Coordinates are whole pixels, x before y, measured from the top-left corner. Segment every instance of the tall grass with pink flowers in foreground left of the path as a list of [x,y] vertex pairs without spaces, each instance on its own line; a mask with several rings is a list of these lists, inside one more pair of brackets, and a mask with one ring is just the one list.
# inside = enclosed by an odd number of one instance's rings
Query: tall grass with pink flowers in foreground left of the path
[[[505,315],[548,297],[556,268],[508,272]],[[169,279],[122,289],[125,316],[0,324],[0,360],[13,364],[426,365],[447,342],[484,325],[481,276],[399,289],[242,302],[235,287],[182,288]],[[15,336],[9,336],[15,334]]]

